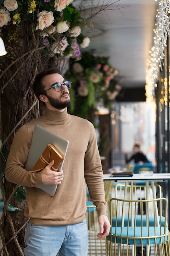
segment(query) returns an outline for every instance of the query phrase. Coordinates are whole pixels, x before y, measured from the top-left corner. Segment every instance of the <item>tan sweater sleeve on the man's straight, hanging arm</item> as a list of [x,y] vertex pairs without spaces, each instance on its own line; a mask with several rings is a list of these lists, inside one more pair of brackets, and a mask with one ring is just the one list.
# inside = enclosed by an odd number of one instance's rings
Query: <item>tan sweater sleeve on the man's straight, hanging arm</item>
[[97,146],[95,128],[89,123],[90,138],[84,158],[84,175],[90,197],[98,215],[107,215],[102,164]]

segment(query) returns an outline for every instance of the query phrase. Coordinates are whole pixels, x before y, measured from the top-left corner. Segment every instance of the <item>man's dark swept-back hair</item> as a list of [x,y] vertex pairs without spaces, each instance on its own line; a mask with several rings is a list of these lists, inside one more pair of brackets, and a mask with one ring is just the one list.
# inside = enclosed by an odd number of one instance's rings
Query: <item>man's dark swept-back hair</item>
[[51,74],[60,74],[60,69],[57,67],[51,67],[47,70],[44,70],[40,73],[38,73],[35,76],[34,82],[32,84],[32,88],[33,88],[33,92],[35,93],[36,97],[40,100],[40,94],[42,94],[42,92],[44,91],[44,87],[42,85],[42,79],[44,76],[46,75],[51,75]]

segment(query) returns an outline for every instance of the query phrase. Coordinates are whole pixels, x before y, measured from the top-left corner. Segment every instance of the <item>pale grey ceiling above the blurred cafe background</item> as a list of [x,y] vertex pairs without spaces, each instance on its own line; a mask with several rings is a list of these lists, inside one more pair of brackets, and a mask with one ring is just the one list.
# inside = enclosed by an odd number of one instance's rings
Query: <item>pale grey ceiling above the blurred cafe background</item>
[[122,88],[144,88],[158,2],[77,0],[74,3],[80,2],[86,9],[83,13],[86,17],[96,12],[99,5],[111,4],[107,8],[110,10],[102,11],[93,18],[95,28],[88,34],[91,43],[86,50],[95,49],[96,54],[110,56],[110,64],[119,71],[117,79]]

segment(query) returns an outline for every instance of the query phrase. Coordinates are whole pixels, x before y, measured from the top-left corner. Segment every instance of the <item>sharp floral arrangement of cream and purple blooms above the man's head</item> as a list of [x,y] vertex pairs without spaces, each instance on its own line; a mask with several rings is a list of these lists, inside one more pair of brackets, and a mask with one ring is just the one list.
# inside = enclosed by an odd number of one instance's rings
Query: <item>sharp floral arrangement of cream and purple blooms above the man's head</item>
[[33,25],[48,53],[69,56],[79,60],[80,48],[89,45],[90,39],[83,34],[93,25],[83,20],[73,7],[73,0],[2,0],[0,1],[0,27],[10,24],[20,27],[22,22]]

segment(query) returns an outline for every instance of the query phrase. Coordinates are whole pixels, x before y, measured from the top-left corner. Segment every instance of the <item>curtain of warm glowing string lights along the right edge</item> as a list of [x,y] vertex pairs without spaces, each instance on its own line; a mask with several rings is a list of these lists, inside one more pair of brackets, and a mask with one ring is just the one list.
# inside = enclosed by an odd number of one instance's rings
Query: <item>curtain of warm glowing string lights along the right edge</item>
[[[155,0],[157,2],[157,0]],[[157,9],[155,28],[153,29],[153,46],[147,59],[146,69],[146,101],[154,101],[155,87],[157,86],[159,70],[162,70],[164,60],[164,48],[167,37],[170,35],[170,0],[159,2]]]

